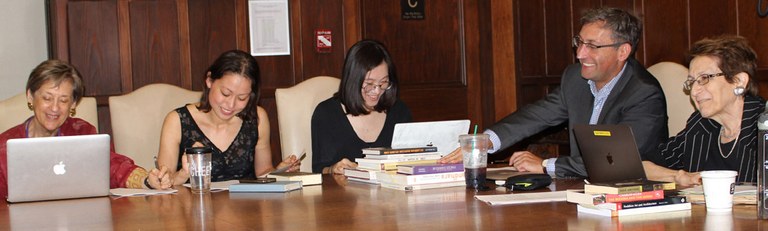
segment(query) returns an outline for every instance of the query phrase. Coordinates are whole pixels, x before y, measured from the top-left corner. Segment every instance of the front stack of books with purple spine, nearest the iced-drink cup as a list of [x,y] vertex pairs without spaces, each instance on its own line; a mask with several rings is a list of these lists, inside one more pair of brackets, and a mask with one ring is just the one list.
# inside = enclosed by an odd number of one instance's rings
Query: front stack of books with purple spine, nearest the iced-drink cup
[[397,172],[377,172],[376,177],[381,187],[403,191],[466,186],[462,163],[398,165]]

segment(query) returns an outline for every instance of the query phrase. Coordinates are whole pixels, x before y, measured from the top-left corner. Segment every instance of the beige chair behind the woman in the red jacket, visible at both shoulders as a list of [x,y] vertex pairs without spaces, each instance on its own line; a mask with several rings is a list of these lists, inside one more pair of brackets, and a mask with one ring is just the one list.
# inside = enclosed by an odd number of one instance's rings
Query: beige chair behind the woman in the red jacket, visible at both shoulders
[[[84,119],[99,129],[99,113],[96,112],[96,98],[83,97],[76,107],[75,117]],[[0,133],[19,125],[32,116],[32,111],[27,107],[27,94],[20,93],[11,98],[0,101]]]

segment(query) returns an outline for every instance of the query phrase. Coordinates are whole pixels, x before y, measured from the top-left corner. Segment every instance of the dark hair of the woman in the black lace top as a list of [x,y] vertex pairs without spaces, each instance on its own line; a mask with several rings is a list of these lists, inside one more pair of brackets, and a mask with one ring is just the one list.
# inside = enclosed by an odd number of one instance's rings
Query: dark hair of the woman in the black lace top
[[[227,73],[239,74],[251,80],[251,94],[248,97],[248,103],[237,116],[244,121],[258,120],[256,104],[259,101],[261,77],[259,75],[259,64],[256,63],[256,59],[251,54],[241,50],[224,52],[208,67],[206,78],[216,81]],[[210,94],[211,89],[207,85],[204,86],[203,96],[200,97],[200,106],[197,109],[209,112],[211,110],[211,102],[208,99],[208,94]]]

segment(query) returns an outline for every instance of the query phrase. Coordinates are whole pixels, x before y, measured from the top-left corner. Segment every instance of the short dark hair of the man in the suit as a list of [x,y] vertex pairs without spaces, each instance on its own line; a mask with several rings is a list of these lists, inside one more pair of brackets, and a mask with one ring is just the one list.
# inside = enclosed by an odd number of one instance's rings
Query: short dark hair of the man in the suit
[[605,22],[604,28],[613,32],[611,38],[614,42],[628,42],[632,45],[630,56],[634,56],[643,33],[643,25],[637,17],[625,10],[610,7],[589,9],[581,16],[582,26],[597,21]]

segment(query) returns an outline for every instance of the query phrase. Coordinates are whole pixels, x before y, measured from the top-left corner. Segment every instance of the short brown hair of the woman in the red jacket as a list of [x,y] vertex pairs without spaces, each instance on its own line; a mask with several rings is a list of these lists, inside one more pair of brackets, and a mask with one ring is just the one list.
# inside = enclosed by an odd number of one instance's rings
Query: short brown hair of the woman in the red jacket
[[80,72],[67,62],[52,59],[37,65],[32,70],[32,73],[29,73],[27,91],[35,93],[48,81],[52,81],[55,86],[59,86],[63,81],[72,83],[72,100],[75,102],[75,105],[80,103],[80,99],[83,98],[85,87],[83,87],[83,79],[80,77]]

